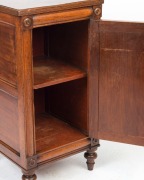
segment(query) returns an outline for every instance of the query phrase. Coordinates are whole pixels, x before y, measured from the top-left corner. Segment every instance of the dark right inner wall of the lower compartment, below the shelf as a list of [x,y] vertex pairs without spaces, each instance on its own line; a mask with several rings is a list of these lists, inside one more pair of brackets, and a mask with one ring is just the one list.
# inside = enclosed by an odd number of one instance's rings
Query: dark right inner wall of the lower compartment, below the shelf
[[51,86],[48,94],[47,111],[81,131],[88,132],[86,79]]

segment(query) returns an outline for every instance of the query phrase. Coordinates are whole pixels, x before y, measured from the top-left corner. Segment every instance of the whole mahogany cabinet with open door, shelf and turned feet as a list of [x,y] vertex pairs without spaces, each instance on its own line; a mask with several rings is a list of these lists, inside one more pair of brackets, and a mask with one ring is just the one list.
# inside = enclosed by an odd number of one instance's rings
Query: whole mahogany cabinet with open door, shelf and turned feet
[[23,180],[82,151],[92,170],[99,139],[144,144],[144,24],[41,2],[0,5],[0,152]]

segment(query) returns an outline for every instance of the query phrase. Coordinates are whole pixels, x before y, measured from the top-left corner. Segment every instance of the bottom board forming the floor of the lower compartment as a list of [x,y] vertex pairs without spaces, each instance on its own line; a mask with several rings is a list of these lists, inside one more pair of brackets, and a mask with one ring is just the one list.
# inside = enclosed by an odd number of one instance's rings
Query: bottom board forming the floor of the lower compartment
[[36,151],[44,153],[63,149],[88,137],[69,124],[46,113],[36,115]]

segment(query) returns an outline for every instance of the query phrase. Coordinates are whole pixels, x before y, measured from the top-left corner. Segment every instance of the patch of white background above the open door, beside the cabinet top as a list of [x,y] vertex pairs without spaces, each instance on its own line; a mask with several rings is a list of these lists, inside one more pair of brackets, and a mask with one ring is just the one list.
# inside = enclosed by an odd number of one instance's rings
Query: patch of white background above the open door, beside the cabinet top
[[103,19],[144,22],[144,0],[105,0]]

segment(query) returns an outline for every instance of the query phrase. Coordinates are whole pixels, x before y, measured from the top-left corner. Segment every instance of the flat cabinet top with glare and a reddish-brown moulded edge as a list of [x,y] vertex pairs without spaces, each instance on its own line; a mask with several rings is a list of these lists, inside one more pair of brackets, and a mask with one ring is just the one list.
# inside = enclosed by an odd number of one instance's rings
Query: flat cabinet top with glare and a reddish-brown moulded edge
[[0,12],[16,16],[100,5],[104,0],[0,0]]

